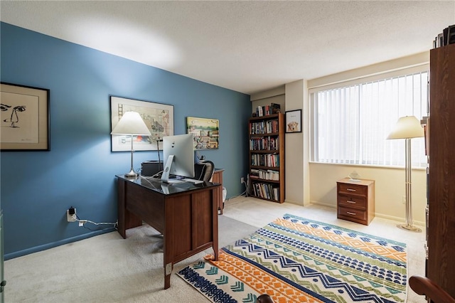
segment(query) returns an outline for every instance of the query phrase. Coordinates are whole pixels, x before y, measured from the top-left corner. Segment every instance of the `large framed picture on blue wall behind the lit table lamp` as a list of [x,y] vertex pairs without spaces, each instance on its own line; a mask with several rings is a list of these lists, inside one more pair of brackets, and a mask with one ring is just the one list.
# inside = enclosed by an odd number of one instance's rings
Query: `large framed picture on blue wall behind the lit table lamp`
[[[164,136],[173,135],[173,105],[111,96],[111,131],[124,112],[139,112],[151,136],[133,136],[134,151],[162,149],[159,142]],[[112,134],[112,151],[131,151],[131,136]]]

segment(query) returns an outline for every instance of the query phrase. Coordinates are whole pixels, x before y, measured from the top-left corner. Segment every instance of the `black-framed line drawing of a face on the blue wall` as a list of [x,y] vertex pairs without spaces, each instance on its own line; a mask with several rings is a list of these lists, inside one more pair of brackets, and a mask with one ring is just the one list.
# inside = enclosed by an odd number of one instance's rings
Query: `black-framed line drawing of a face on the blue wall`
[[49,151],[49,90],[1,83],[2,151]]

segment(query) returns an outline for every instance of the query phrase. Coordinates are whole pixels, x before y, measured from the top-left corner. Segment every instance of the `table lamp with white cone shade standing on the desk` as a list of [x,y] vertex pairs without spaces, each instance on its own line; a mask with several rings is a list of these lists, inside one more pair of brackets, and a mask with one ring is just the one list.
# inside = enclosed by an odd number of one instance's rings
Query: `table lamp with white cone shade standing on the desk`
[[139,115],[139,112],[125,112],[122,119],[119,120],[111,134],[123,134],[131,136],[131,170],[125,174],[126,177],[137,177],[137,172],[134,171],[133,167],[133,136],[144,135],[150,136],[151,133],[147,128],[144,120]]

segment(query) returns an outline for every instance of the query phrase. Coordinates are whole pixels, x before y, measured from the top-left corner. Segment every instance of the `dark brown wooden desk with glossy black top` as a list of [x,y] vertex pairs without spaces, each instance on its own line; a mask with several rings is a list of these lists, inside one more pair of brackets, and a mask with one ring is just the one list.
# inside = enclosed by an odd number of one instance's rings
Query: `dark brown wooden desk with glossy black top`
[[220,184],[176,184],[117,176],[119,233],[142,225],[164,236],[164,289],[171,287],[173,264],[207,248],[218,260]]

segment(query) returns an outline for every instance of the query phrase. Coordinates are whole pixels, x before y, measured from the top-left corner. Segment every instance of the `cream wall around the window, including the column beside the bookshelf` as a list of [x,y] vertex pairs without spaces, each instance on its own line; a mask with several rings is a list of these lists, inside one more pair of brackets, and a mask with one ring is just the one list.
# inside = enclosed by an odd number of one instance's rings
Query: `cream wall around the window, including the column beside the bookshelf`
[[[385,63],[348,70],[335,75],[299,80],[285,85],[286,110],[302,109],[302,132],[286,134],[286,201],[299,205],[308,203],[336,207],[336,181],[350,172],[357,171],[362,179],[375,180],[375,215],[382,218],[405,221],[405,169],[383,168],[374,166],[350,166],[339,164],[309,163],[309,92],[311,87],[318,87],[343,80],[368,75],[378,75],[400,68],[429,63],[429,52],[418,53],[405,58],[390,60]],[[273,90],[267,91],[273,95]],[[258,93],[252,101],[259,100]],[[267,94],[266,94],[267,95]],[[269,101],[267,100],[267,104]],[[254,104],[255,102],[252,102]],[[257,105],[256,105],[257,106]],[[252,105],[254,110],[255,105]],[[283,108],[283,106],[282,106]],[[282,110],[284,112],[284,110]],[[403,142],[405,144],[405,142]],[[403,154],[403,157],[405,155]],[[427,181],[424,169],[412,171],[412,215],[414,224],[424,225],[425,206],[427,205]]]

